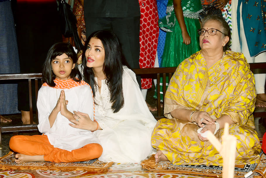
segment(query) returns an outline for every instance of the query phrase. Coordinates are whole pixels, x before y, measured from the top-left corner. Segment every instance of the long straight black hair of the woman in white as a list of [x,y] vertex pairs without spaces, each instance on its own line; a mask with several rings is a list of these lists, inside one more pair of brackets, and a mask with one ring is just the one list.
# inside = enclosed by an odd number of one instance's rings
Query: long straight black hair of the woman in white
[[[105,52],[103,73],[106,76],[106,84],[111,93],[110,102],[112,102],[113,112],[118,112],[124,106],[124,96],[122,91],[122,49],[119,44],[118,37],[109,31],[96,31],[93,32],[87,39],[82,53],[82,64],[84,67],[83,75],[84,80],[89,83],[92,88],[93,95],[95,96],[96,82],[94,80],[93,68],[87,67],[87,59],[85,52],[91,38],[101,40]],[[97,103],[96,103],[97,104]]]

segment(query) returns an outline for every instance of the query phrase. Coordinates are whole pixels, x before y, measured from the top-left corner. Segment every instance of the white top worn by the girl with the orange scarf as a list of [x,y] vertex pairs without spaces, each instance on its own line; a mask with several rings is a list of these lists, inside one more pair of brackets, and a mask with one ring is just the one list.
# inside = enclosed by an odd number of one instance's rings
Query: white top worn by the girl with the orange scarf
[[[91,88],[89,85],[81,85],[65,91],[65,99],[68,100],[67,109],[80,111],[89,114],[91,120],[94,119],[94,106]],[[49,142],[55,148],[64,150],[75,150],[89,143],[99,143],[91,131],[76,129],[68,125],[71,123],[59,112],[53,126],[50,128],[48,120],[53,108],[56,106],[61,89],[42,86],[38,92],[37,109],[39,124],[38,129],[41,133],[47,135]]]

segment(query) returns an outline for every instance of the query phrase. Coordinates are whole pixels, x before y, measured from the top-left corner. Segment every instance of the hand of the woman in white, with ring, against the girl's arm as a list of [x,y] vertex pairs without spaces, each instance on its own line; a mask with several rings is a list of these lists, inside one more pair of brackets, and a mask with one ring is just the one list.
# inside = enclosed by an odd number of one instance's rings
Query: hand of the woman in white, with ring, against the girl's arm
[[71,127],[77,128],[77,129],[84,129],[89,131],[94,131],[96,128],[94,128],[94,121],[91,120],[89,117],[89,114],[74,111],[73,114],[74,119],[68,119],[73,124],[69,124]]

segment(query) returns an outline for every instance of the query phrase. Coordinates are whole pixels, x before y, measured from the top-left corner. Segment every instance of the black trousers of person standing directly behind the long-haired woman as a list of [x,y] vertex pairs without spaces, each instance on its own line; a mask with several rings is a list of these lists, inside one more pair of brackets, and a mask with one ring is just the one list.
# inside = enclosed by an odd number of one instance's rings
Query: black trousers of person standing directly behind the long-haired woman
[[[120,41],[125,61],[131,69],[139,69],[139,24],[140,16],[127,18],[89,18],[85,17],[86,36],[98,30],[115,33]],[[140,77],[137,81],[141,86]]]

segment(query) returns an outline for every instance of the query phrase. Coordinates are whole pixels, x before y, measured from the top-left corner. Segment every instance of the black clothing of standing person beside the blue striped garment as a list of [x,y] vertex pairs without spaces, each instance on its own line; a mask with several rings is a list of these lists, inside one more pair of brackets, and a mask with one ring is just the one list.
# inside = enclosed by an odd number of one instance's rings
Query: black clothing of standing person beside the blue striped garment
[[[20,72],[42,73],[49,48],[56,42],[62,42],[56,1],[18,2],[15,8],[15,23]],[[33,95],[35,96],[35,92]],[[33,108],[34,101],[35,97]],[[30,110],[27,80],[18,83],[18,110]]]

